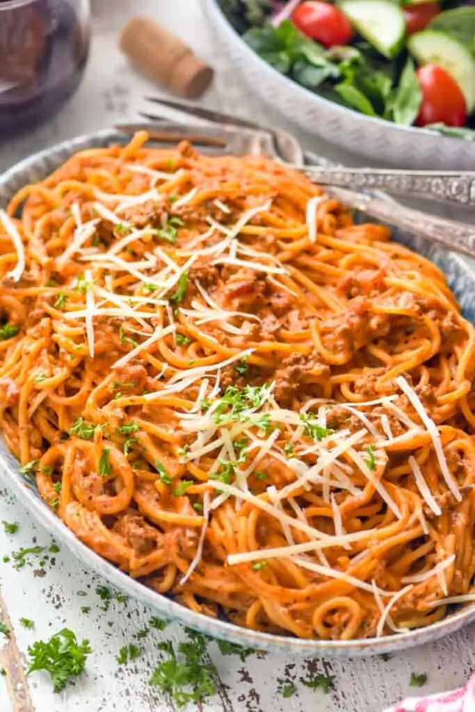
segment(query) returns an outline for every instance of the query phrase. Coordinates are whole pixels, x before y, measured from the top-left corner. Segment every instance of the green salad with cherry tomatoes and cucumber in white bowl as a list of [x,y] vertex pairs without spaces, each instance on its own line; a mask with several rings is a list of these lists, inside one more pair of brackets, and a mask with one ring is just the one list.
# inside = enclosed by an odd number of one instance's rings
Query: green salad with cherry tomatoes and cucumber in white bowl
[[218,1],[244,41],[303,87],[368,116],[475,140],[475,6]]

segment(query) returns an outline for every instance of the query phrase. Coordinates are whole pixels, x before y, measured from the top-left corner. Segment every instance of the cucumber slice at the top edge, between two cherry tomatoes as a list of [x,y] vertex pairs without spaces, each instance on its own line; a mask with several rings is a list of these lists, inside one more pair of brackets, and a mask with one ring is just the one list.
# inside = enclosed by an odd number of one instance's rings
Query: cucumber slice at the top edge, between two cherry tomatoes
[[391,0],[342,0],[340,9],[383,56],[393,59],[400,53],[406,23],[399,5]]

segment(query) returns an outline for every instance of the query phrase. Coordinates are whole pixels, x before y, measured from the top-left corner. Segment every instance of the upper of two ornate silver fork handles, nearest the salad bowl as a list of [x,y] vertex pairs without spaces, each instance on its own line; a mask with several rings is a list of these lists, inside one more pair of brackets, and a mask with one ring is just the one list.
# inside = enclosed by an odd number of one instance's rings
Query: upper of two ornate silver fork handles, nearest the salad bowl
[[305,167],[310,180],[351,189],[382,190],[452,205],[475,206],[475,173]]

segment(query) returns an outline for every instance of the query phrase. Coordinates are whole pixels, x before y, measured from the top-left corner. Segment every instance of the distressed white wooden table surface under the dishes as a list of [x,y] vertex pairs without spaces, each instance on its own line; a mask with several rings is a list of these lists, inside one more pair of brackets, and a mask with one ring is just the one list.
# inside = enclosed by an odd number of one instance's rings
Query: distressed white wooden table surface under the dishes
[[[0,146],[0,169],[38,149],[66,137],[115,122],[137,117],[145,108],[143,97],[155,90],[140,78],[120,56],[118,30],[133,14],[153,14],[180,33],[217,70],[214,88],[204,103],[224,111],[254,116],[266,122],[285,125],[239,83],[232,67],[221,55],[216,38],[210,35],[197,0],[92,0],[93,48],[83,85],[61,112],[38,132]],[[293,128],[293,127],[291,127]],[[348,164],[358,159],[328,147],[315,138],[301,135],[312,150]],[[12,552],[32,545],[48,547],[51,536],[35,525],[22,503],[9,495],[8,482],[0,478],[0,521],[18,523],[13,535],[0,527],[0,607],[11,637],[0,643],[0,712],[170,712],[175,709],[167,698],[157,697],[148,684],[150,673],[160,658],[156,644],[163,639],[184,638],[178,624],[165,632],[152,631],[140,640],[142,656],[128,666],[116,660],[122,645],[137,642],[135,634],[147,627],[152,612],[133,600],[113,600],[108,610],[96,593],[107,585],[62,550],[48,553],[43,567],[40,557],[28,557],[26,565],[15,570]],[[46,557],[45,557],[46,558]],[[81,607],[89,608],[87,613]],[[34,629],[24,627],[20,618],[34,621]],[[46,639],[63,627],[87,638],[93,648],[87,674],[64,693],[55,694],[51,681],[42,673],[26,678],[26,650],[38,639]],[[0,635],[1,637],[1,635]],[[412,649],[393,656],[331,661],[292,659],[282,654],[251,656],[245,663],[236,656],[223,656],[214,643],[211,656],[219,672],[219,694],[207,701],[203,712],[381,712],[398,698],[418,693],[409,686],[412,672],[427,673],[422,691],[442,691],[464,684],[474,668],[474,629],[465,629],[437,644]],[[320,671],[334,678],[328,694],[312,691],[301,683],[308,671]],[[296,693],[284,698],[279,681],[295,681]]]

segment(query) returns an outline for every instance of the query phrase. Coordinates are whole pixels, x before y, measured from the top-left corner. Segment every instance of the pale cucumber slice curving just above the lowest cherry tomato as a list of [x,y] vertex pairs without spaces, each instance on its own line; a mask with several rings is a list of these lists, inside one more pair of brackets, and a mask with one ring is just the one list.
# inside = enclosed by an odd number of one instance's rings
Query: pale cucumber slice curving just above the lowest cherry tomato
[[468,111],[475,109],[475,61],[461,42],[445,32],[423,30],[409,37],[407,48],[419,64],[445,69],[459,83]]

